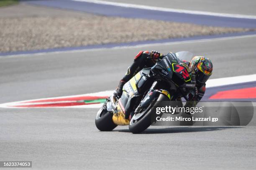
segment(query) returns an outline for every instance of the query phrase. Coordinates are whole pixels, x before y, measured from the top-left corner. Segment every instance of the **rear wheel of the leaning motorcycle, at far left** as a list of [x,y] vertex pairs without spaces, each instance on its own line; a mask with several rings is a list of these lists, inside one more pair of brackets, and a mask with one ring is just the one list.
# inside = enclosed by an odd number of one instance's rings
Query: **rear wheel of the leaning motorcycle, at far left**
[[113,122],[112,117],[113,113],[108,112],[105,102],[104,105],[102,105],[100,110],[97,112],[97,115],[95,117],[95,125],[98,130],[111,131],[115,127],[117,127],[117,125],[115,125],[115,123]]

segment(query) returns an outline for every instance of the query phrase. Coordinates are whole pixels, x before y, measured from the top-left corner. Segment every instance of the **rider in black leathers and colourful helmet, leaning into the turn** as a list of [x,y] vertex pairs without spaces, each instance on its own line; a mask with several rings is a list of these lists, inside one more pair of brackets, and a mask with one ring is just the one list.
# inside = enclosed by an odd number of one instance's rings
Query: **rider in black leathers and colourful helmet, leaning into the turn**
[[[115,97],[121,97],[123,85],[128,82],[134,75],[146,67],[153,67],[156,61],[161,60],[165,55],[157,51],[140,51],[135,57],[133,64],[128,67],[125,76],[120,80],[117,89],[114,92]],[[195,107],[205,94],[205,82],[212,75],[212,62],[210,59],[195,56],[192,60],[180,60],[189,68],[192,77],[191,82],[195,83],[194,93],[189,93],[186,105],[184,107]],[[126,110],[126,109],[125,109]]]

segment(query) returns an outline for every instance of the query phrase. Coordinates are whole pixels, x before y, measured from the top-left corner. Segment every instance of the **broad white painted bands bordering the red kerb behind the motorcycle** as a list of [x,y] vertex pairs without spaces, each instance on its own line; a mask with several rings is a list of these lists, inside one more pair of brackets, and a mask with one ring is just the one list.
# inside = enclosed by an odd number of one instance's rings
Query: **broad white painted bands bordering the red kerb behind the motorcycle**
[[[233,85],[233,84],[238,84],[238,83],[243,83],[243,82],[253,82],[256,81],[256,74],[253,75],[241,75],[241,76],[236,76],[236,77],[225,77],[225,78],[218,78],[218,79],[210,79],[207,81],[206,87],[218,87],[218,86],[223,86],[223,85]],[[49,100],[49,99],[61,99],[61,98],[67,98],[67,97],[81,97],[81,96],[110,96],[113,94],[113,90],[108,90],[108,91],[102,91],[102,92],[95,92],[95,93],[88,93],[88,94],[83,94],[83,95],[72,95],[72,96],[62,96],[62,97],[50,97],[50,98],[41,98],[41,99],[34,99],[34,100],[24,100],[24,101],[18,101],[18,102],[8,102],[8,103],[3,103],[0,104],[0,108],[27,108],[27,107],[14,107],[14,106],[20,106],[22,105],[22,102],[26,102],[26,105],[34,105],[37,104],[35,102],[29,103],[35,100]],[[62,101],[65,102],[65,101]],[[70,101],[69,101],[70,102]],[[44,102],[40,104],[45,104],[49,102]],[[54,102],[51,102],[54,103]],[[23,103],[24,105],[24,103]],[[92,104],[92,105],[77,105],[77,106],[65,106],[63,108],[99,108],[101,107],[102,104]],[[46,107],[44,107],[46,108]],[[52,108],[52,107],[51,107]],[[60,108],[60,107],[58,107]]]

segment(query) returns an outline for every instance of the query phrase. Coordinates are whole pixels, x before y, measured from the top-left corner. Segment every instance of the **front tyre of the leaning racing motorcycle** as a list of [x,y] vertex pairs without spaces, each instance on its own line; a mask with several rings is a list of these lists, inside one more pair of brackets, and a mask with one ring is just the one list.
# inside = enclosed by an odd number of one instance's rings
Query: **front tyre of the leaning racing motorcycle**
[[[160,94],[157,101],[169,100],[166,95]],[[146,130],[151,125],[151,108],[153,106],[148,105],[148,107],[141,113],[134,115],[130,121],[129,130],[132,133],[141,133]]]

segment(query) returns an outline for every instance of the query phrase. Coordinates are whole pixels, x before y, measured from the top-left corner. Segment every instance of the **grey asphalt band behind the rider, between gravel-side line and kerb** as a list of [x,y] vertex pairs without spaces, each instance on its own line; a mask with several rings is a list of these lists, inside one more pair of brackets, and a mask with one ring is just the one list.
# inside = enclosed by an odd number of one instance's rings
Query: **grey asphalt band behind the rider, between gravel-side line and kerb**
[[[0,57],[0,103],[113,90],[140,50],[191,51],[209,57],[211,79],[256,72],[256,36],[231,37],[167,45],[141,45],[81,52]],[[29,88],[28,88],[29,87]]]

